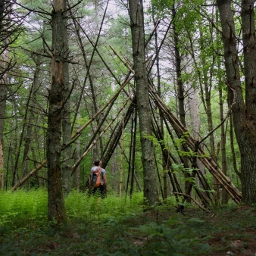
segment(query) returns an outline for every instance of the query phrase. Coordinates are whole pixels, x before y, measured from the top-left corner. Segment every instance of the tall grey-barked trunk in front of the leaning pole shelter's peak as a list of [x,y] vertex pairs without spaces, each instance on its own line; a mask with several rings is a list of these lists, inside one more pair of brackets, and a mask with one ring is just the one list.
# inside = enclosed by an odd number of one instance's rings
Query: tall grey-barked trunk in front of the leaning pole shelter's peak
[[142,0],[129,0],[132,31],[133,62],[135,71],[139,131],[142,145],[144,197],[148,204],[157,201],[154,148],[146,136],[151,136],[151,108],[149,105],[148,74],[145,65],[144,17]]

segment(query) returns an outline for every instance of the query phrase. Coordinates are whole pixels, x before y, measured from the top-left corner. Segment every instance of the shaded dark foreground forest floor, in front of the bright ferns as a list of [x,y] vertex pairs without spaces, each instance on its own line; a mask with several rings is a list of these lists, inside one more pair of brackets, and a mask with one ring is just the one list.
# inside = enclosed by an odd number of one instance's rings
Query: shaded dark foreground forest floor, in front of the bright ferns
[[0,226],[0,255],[254,256],[255,214],[236,204],[183,213],[158,206],[123,217],[73,217],[58,229],[38,217]]

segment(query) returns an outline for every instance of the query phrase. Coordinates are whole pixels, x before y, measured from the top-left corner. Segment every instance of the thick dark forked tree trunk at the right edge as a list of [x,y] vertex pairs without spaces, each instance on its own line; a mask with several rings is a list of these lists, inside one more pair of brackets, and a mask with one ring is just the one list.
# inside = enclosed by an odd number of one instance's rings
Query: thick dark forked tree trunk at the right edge
[[242,39],[245,61],[245,101],[239,75],[236,30],[231,0],[218,0],[220,11],[226,84],[233,105],[233,124],[241,154],[242,202],[256,203],[256,48],[254,27],[254,1],[242,1]]

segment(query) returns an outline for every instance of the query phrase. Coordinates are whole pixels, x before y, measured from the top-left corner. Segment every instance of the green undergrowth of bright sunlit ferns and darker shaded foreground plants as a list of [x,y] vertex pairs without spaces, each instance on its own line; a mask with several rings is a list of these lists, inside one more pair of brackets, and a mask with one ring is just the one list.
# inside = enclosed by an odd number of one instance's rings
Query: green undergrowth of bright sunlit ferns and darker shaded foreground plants
[[[0,255],[209,255],[229,246],[231,230],[242,239],[256,226],[255,209],[241,218],[236,204],[211,213],[189,205],[183,215],[173,198],[147,209],[142,202],[142,193],[120,200],[73,191],[65,198],[69,223],[54,229],[45,190],[0,192]],[[225,236],[215,246],[219,233]]]

